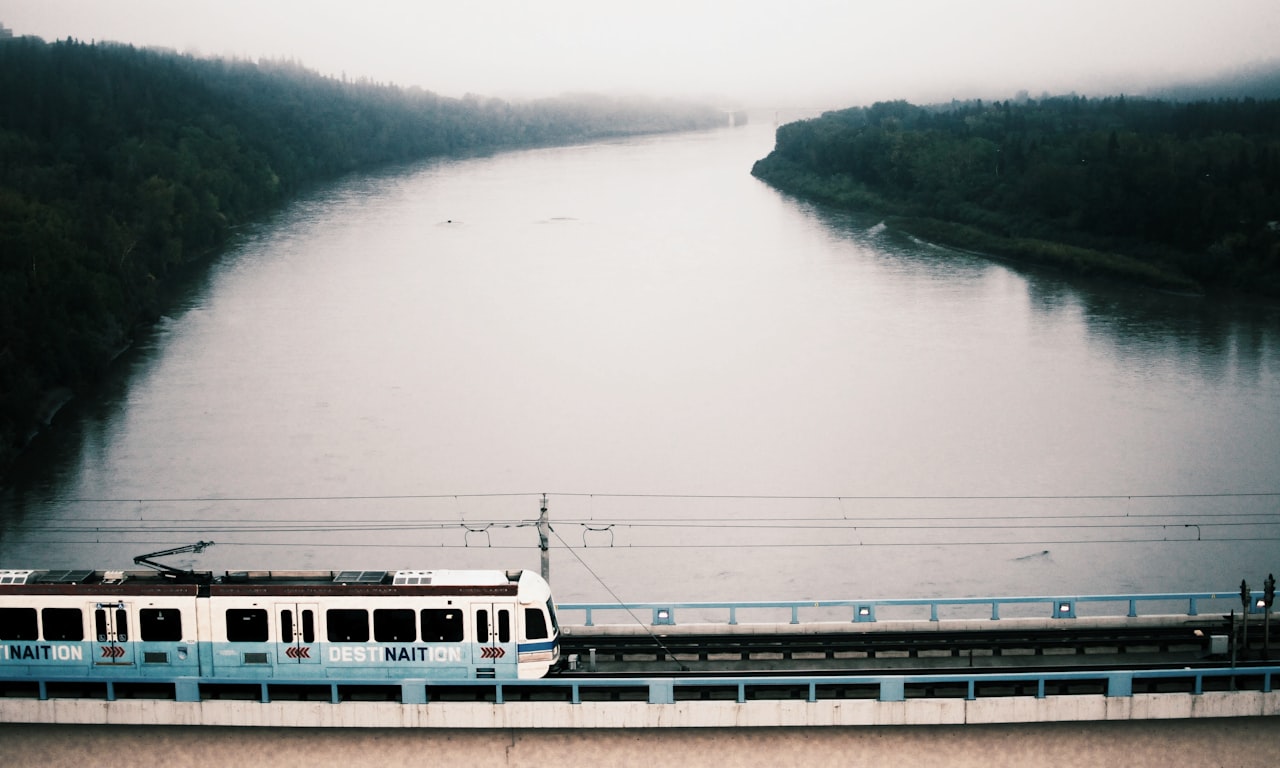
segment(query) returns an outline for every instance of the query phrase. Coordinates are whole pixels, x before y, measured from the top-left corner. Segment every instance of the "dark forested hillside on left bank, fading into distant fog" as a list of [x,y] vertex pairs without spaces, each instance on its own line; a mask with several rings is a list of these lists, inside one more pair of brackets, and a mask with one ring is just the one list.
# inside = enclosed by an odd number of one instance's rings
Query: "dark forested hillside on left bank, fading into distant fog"
[[308,186],[723,122],[681,102],[456,100],[292,63],[0,41],[0,466],[157,316],[180,268]]

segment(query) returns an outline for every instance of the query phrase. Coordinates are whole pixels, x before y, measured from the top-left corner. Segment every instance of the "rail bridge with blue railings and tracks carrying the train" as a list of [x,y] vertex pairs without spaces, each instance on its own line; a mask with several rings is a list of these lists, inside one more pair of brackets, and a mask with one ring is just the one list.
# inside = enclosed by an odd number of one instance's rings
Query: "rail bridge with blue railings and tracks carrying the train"
[[[564,604],[570,669],[543,680],[9,680],[0,722],[483,730],[1277,716],[1270,617],[1252,618],[1245,645],[1225,620],[1233,603],[1234,593],[1175,593]],[[1070,657],[1050,648],[1061,637]],[[696,648],[716,641],[724,648]]]

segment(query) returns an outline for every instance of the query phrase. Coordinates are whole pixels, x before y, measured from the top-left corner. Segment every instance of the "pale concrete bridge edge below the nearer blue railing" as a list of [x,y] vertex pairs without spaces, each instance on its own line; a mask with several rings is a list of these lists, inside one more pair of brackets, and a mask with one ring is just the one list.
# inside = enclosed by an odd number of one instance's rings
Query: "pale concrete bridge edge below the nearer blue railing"
[[988,699],[554,701],[397,704],[372,701],[0,700],[0,722],[284,728],[718,728],[941,726],[1280,716],[1280,691],[1001,696]]

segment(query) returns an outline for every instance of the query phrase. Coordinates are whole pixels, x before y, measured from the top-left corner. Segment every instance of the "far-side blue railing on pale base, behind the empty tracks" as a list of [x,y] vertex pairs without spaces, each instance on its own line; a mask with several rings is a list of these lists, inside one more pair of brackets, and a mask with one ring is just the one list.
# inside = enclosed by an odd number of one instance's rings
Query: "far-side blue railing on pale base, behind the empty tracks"
[[[1185,607],[1187,616],[1199,616],[1199,612],[1206,608],[1203,603],[1210,603],[1208,609],[1215,613],[1228,613],[1233,609],[1240,611],[1240,593],[1236,591],[1219,591],[1219,593],[1161,593],[1161,594],[1121,594],[1121,595],[1038,595],[1038,596],[1020,596],[1020,598],[892,598],[892,599],[870,599],[870,600],[780,600],[780,602],[707,602],[707,603],[562,603],[557,605],[561,613],[562,623],[571,623],[566,621],[567,617],[576,612],[584,614],[582,626],[595,626],[595,618],[598,613],[607,612],[625,612],[627,618],[634,622],[639,617],[649,616],[652,618],[650,623],[654,626],[675,626],[676,625],[676,612],[689,612],[696,613],[699,617],[719,617],[719,618],[700,618],[700,621],[712,621],[714,623],[727,622],[728,625],[739,623],[739,614],[750,613],[772,613],[774,616],[786,616],[790,613],[790,622],[792,625],[801,623],[801,612],[806,614],[826,612],[827,616],[838,616],[844,612],[849,616],[850,622],[876,622],[877,613],[882,616],[886,612],[893,611],[896,620],[919,620],[924,621],[924,609],[928,609],[928,621],[940,621],[943,612],[948,613],[947,618],[982,618],[987,611],[989,611],[991,621],[1000,621],[1001,611],[1005,609],[1006,613],[1014,613],[1015,608],[1027,608],[1041,605],[1044,608],[1041,617],[1048,618],[1078,618],[1088,613],[1089,616],[1124,616],[1128,618],[1135,618],[1139,616],[1139,607],[1153,607],[1153,611],[1143,613],[1142,616],[1156,616],[1156,611],[1167,614],[1170,611],[1183,611]],[[1114,612],[1108,612],[1110,607],[1119,605]],[[974,607],[984,608],[983,613],[977,613],[973,611]],[[1097,609],[1097,611],[1096,611]],[[1124,613],[1119,613],[1124,611]],[[727,613],[726,613],[727,612]],[[1261,611],[1253,609],[1251,607],[1251,613],[1262,613]],[[844,618],[840,618],[844,621]],[[813,620],[819,621],[819,620]]]

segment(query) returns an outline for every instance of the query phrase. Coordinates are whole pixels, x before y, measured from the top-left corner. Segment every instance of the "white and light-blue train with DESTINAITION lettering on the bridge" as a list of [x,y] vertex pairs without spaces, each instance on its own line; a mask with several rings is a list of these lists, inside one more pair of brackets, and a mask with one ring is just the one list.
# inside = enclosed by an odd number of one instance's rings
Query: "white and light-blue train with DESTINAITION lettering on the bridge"
[[558,662],[530,571],[0,571],[8,680],[525,680]]

